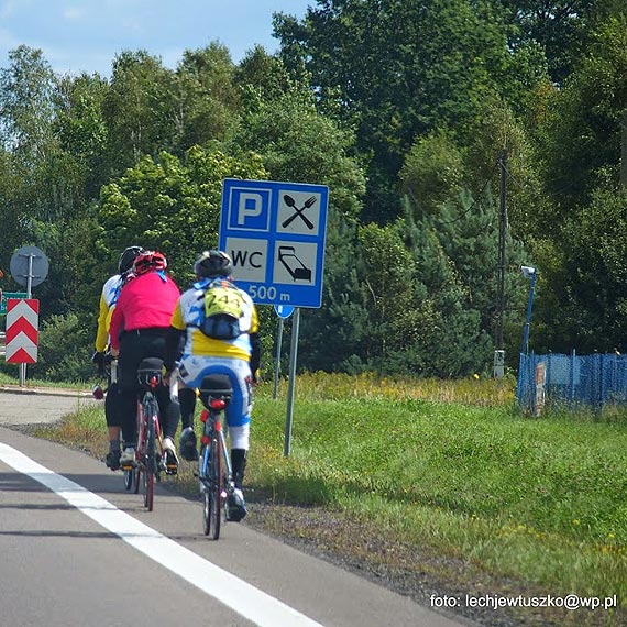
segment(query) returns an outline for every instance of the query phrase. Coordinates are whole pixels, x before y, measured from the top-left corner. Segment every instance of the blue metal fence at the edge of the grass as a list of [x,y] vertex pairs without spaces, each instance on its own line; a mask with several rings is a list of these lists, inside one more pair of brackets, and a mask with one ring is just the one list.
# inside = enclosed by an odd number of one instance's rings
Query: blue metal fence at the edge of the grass
[[627,405],[627,355],[520,354],[516,397],[536,414],[543,405]]

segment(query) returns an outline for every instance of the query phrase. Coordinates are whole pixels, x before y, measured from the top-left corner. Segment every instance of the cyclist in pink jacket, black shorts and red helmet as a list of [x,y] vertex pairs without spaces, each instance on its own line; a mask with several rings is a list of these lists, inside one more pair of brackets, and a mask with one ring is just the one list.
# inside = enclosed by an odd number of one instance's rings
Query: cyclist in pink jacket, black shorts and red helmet
[[[120,463],[133,463],[138,440],[136,406],[140,392],[138,367],[145,358],[165,359],[165,339],[180,290],[166,274],[167,260],[157,251],[145,251],[133,263],[133,276],[120,292],[111,318],[111,354],[119,355],[120,415],[124,451]],[[179,407],[169,389],[156,391],[164,432],[165,465],[169,474],[178,466],[174,437],[178,428]]]

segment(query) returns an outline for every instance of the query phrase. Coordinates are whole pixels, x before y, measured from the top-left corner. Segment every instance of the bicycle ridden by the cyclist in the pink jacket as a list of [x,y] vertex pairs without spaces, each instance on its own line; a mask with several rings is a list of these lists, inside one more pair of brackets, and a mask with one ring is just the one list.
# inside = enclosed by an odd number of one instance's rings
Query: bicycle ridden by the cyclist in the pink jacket
[[155,481],[161,482],[163,464],[163,436],[160,425],[160,410],[156,399],[157,386],[162,384],[163,361],[157,358],[142,360],[138,369],[138,383],[141,398],[138,399],[138,447],[133,465],[122,465],[124,487],[134,493],[143,487],[144,507],[154,507]]

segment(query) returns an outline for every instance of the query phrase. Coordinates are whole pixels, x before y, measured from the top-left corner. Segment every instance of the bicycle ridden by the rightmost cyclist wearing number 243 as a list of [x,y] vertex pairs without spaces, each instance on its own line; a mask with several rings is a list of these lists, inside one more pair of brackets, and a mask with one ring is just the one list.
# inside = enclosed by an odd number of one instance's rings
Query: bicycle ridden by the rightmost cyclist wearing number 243
[[233,396],[226,374],[211,374],[202,380],[199,397],[205,406],[200,415],[202,436],[198,458],[198,480],[202,494],[202,529],[213,540],[220,537],[227,521],[227,498],[233,491],[231,462],[221,416]]

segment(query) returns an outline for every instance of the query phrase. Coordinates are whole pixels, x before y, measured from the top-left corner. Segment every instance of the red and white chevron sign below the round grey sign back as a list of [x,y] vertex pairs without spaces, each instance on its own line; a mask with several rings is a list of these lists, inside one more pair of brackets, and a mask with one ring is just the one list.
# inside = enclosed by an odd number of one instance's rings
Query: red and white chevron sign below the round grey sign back
[[40,301],[36,298],[7,299],[7,363],[37,361]]

